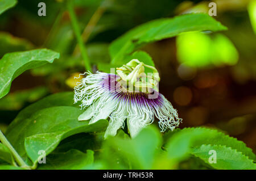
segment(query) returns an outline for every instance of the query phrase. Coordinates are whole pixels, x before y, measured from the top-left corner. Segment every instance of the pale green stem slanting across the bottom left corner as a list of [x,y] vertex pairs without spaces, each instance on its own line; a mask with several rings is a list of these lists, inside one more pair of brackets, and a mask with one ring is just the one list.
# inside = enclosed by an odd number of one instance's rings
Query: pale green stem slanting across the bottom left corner
[[11,146],[10,142],[6,139],[5,135],[0,130],[0,141],[3,145],[5,145],[13,154],[14,159],[18,163],[18,165],[24,169],[30,169],[30,167],[23,161],[23,159],[20,157],[20,155],[17,153],[17,151]]

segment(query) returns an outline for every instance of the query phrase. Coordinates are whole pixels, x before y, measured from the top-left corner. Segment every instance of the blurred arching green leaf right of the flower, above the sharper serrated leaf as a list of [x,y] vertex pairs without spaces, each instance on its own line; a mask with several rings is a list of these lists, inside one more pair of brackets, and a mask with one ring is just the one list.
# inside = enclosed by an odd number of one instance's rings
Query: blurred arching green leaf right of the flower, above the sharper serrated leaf
[[170,158],[182,159],[189,153],[190,148],[200,147],[203,144],[224,145],[242,152],[250,159],[255,159],[255,155],[245,143],[236,138],[209,128],[184,128],[175,133],[166,148]]

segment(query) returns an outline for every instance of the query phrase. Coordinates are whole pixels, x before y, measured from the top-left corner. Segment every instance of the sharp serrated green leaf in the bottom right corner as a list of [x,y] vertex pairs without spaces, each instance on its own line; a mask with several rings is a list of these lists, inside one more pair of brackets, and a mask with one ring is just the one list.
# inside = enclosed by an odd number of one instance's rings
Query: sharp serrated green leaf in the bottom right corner
[[[210,150],[216,151],[216,163],[209,163]],[[253,163],[253,160],[225,145],[201,145],[200,147],[192,148],[191,153],[203,159],[205,163],[209,163],[214,169],[256,170],[256,164]]]

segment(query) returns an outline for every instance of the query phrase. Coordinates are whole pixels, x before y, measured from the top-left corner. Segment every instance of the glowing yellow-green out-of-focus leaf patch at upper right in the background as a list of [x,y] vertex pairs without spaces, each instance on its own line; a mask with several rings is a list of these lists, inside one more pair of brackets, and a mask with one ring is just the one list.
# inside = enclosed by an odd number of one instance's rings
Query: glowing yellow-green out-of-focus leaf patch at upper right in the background
[[177,59],[190,67],[235,65],[238,52],[228,37],[217,34],[184,33],[177,37]]

